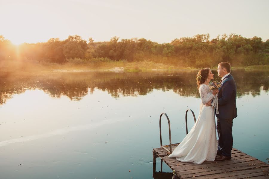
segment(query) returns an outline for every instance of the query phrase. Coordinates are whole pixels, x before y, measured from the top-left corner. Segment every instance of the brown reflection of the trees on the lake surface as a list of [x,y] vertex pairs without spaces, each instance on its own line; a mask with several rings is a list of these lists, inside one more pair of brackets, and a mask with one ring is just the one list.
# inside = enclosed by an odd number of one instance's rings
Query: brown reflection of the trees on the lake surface
[[[214,74],[217,74],[213,71]],[[49,74],[21,74],[0,79],[0,105],[14,94],[28,89],[40,89],[52,98],[67,96],[79,101],[94,89],[107,91],[112,97],[120,95],[146,95],[153,89],[173,90],[181,96],[199,97],[195,83],[196,70],[173,72],[62,72]],[[261,90],[269,90],[269,72],[233,70],[237,83],[237,96],[260,95]],[[215,76],[215,80],[220,78]]]

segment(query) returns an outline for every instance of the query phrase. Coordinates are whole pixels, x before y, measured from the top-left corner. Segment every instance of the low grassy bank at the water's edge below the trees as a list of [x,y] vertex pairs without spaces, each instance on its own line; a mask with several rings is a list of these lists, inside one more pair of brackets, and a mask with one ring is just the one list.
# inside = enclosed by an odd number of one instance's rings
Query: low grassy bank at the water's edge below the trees
[[[9,61],[0,63],[0,74],[12,74],[15,72],[42,72],[53,70],[110,70],[120,69],[127,72],[139,72],[148,70],[198,70],[200,68],[184,67],[181,65],[155,63],[153,61],[111,61],[106,58],[91,60],[71,59],[63,64],[30,61]],[[216,70],[217,67],[211,67]],[[247,67],[232,67],[232,70],[269,70],[269,65],[253,65]]]

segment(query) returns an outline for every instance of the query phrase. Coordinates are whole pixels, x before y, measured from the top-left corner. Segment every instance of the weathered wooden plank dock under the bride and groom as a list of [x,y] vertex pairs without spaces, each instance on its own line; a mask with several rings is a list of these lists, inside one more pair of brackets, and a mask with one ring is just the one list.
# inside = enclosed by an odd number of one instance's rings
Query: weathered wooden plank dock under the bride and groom
[[[178,144],[172,144],[172,151]],[[169,146],[165,146],[170,149]],[[237,149],[232,149],[232,159],[226,161],[205,161],[198,165],[192,162],[180,162],[176,158],[168,158],[163,148],[153,149],[153,169],[156,169],[156,158],[160,157],[178,178],[266,178],[269,179],[269,165]],[[161,165],[162,168],[162,165]],[[161,169],[162,170],[162,169]]]

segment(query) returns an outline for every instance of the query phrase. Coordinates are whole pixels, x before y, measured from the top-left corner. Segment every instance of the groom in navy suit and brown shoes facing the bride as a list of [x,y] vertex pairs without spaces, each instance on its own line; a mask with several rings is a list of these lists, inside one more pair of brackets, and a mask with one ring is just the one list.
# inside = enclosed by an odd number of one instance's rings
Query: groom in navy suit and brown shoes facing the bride
[[237,117],[236,83],[230,74],[230,63],[219,63],[217,72],[218,76],[221,77],[221,87],[218,92],[219,114],[216,113],[218,151],[215,160],[225,161],[231,159],[231,150],[233,148],[233,118]]

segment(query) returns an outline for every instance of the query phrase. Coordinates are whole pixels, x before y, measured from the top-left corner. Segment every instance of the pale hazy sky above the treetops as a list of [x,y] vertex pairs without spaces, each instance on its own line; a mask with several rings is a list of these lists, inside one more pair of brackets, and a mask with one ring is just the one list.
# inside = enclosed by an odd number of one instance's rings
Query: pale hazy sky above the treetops
[[158,43],[209,33],[269,39],[269,0],[0,0],[0,35],[14,44],[113,36]]

